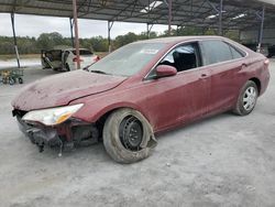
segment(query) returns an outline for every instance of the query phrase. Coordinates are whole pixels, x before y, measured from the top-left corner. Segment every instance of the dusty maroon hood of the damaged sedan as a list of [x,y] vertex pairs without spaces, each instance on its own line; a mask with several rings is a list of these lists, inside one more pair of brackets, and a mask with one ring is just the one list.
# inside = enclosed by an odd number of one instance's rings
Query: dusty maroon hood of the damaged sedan
[[110,90],[125,79],[85,70],[53,75],[28,85],[12,106],[25,111],[65,106],[72,100]]

